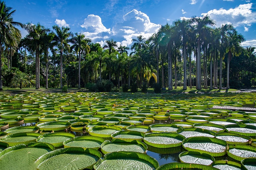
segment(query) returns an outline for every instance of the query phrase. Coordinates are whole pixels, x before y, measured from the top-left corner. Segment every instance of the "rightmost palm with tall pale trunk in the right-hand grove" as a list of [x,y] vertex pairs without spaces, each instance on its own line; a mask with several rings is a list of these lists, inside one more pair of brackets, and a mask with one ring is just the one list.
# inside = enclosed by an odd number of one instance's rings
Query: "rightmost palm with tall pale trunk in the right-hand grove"
[[232,29],[228,32],[228,53],[227,59],[227,89],[229,89],[229,62],[233,56],[239,56],[241,54],[241,42],[245,41],[242,34],[238,34],[236,29]]

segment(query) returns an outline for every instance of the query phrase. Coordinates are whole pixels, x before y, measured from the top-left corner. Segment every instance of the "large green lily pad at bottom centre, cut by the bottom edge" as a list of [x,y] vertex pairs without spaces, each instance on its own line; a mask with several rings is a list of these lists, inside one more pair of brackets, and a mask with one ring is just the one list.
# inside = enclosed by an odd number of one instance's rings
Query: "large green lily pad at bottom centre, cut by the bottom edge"
[[143,169],[154,170],[159,166],[156,159],[139,152],[111,152],[94,165],[95,170]]

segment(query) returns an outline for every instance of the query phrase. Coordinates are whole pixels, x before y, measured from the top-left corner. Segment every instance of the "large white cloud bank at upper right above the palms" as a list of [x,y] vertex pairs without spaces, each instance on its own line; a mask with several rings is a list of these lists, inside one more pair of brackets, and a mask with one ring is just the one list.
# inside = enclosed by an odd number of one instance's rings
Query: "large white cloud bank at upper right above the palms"
[[202,15],[208,14],[213,20],[217,22],[217,26],[222,24],[233,24],[235,27],[242,25],[250,25],[256,23],[256,13],[252,12],[251,4],[240,4],[236,8],[226,9],[214,9]]

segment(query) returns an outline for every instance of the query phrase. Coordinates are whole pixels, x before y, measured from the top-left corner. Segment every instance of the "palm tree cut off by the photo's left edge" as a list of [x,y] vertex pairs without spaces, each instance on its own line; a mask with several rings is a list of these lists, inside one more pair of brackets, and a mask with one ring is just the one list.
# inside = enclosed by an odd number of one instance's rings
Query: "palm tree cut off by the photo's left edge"
[[19,22],[14,22],[12,15],[14,11],[11,11],[12,8],[6,6],[5,2],[0,1],[0,90],[3,90],[2,87],[2,44],[8,42],[11,39],[20,39],[21,34],[20,30],[15,26],[23,27],[23,24]]

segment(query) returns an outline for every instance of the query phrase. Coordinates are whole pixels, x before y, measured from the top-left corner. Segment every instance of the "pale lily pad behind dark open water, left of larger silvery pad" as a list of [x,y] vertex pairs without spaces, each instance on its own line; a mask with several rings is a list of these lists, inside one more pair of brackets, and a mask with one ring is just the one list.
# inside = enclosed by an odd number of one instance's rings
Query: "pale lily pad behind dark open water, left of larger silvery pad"
[[146,133],[143,141],[150,146],[157,148],[170,148],[181,145],[184,137],[177,133],[160,132],[160,133]]

